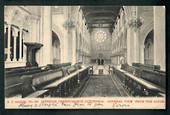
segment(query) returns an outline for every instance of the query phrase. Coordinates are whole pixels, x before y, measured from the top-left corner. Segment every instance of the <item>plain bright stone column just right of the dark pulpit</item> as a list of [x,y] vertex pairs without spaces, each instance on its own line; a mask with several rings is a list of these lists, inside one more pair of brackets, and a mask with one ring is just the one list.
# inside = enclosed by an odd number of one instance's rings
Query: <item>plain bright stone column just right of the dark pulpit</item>
[[47,65],[52,64],[52,14],[51,6],[43,8],[43,65]]

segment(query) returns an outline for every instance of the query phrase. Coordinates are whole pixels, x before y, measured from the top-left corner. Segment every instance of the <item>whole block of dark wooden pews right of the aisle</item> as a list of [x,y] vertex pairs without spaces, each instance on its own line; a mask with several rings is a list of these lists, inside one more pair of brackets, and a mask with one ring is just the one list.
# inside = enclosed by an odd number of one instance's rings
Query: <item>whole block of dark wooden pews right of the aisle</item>
[[112,70],[131,96],[165,96],[165,72],[157,65],[123,64]]

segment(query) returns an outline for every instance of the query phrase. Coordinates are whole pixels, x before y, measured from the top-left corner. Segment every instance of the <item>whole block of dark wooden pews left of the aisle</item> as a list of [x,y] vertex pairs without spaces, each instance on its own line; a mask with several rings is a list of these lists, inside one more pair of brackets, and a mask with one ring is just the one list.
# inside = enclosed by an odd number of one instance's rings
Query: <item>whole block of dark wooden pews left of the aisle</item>
[[68,97],[84,79],[88,67],[81,63],[49,64],[5,70],[6,97]]

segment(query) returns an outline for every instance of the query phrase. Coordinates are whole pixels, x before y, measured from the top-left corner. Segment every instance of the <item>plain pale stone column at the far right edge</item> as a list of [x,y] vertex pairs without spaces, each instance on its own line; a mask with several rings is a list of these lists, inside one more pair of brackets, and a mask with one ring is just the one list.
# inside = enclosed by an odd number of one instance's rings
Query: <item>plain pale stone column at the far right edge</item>
[[166,70],[165,6],[154,6],[154,64]]

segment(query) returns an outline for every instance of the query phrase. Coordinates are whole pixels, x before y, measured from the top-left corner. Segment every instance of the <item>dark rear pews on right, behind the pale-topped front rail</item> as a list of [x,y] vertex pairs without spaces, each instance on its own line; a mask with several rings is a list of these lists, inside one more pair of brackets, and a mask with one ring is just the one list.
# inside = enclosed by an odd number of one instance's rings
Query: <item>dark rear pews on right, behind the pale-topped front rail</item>
[[136,77],[158,85],[159,87],[166,88],[166,74],[160,70],[160,66],[158,65],[133,63],[132,66],[124,64],[121,69],[135,75]]

